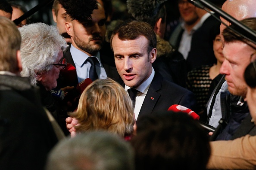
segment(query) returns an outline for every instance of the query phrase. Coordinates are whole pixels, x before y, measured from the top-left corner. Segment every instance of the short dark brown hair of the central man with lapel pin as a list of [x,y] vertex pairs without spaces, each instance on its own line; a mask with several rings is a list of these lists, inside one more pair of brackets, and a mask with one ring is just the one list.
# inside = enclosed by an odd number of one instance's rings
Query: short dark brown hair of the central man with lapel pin
[[118,38],[121,40],[133,40],[138,36],[145,36],[148,40],[147,51],[150,52],[153,48],[156,48],[156,33],[154,32],[153,27],[147,22],[129,20],[119,24],[119,26],[113,30],[110,38],[112,50],[112,39],[115,35],[118,35]]

